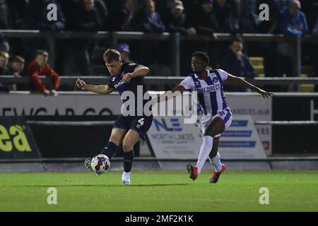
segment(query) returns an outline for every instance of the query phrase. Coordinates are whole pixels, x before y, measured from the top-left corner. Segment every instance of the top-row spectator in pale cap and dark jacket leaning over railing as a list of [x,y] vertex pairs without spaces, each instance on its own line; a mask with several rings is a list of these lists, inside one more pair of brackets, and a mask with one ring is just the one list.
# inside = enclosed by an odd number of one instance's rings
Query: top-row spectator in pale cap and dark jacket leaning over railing
[[164,18],[168,32],[179,32],[182,35],[196,35],[196,29],[189,25],[184,14],[182,1],[175,0],[170,3],[168,13]]

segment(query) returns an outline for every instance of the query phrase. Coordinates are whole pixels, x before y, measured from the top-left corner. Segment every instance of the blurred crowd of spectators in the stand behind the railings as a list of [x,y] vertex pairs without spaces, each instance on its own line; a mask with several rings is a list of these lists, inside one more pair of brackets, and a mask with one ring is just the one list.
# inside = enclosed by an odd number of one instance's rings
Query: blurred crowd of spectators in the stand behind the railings
[[[48,4],[57,6],[57,20],[47,19]],[[269,20],[260,20],[259,13],[263,10],[259,9],[260,4],[269,6]],[[248,54],[257,55],[259,52],[264,57],[266,76],[291,76],[293,56],[290,44],[245,44],[240,34],[318,35],[318,3],[304,0],[0,0],[0,29],[180,32],[186,36],[207,35],[211,39],[216,38],[216,33],[225,32],[233,35],[229,43],[183,42],[182,75],[191,72],[191,53],[203,50],[208,52],[212,68],[220,67],[236,76],[257,76]],[[47,63],[49,47],[46,40],[8,40],[0,33],[0,76],[30,76],[35,90],[55,95],[59,88],[59,75],[70,76],[76,70],[82,75],[92,75],[94,49],[107,48],[107,45],[109,43],[105,40],[59,40],[54,71]],[[134,59],[139,64],[153,66],[156,75],[165,75],[164,71],[156,69],[169,69],[170,46],[162,42],[130,41],[119,44],[117,49],[124,61],[132,62],[131,59]],[[317,44],[305,47],[309,56],[307,61],[314,66],[316,74],[317,52]],[[155,67],[158,64],[160,66]],[[52,78],[51,88],[45,87],[38,78],[41,75]],[[0,90],[20,88],[15,84],[0,85]]]

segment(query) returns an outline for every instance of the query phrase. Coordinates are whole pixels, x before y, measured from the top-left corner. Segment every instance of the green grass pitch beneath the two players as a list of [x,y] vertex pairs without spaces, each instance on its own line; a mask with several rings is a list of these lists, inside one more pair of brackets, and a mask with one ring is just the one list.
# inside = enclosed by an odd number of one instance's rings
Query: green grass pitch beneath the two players
[[[0,211],[318,211],[318,172],[234,172],[208,184],[210,172],[196,181],[187,172],[0,173]],[[47,204],[47,189],[57,189],[57,205]],[[259,189],[269,189],[269,205]]]

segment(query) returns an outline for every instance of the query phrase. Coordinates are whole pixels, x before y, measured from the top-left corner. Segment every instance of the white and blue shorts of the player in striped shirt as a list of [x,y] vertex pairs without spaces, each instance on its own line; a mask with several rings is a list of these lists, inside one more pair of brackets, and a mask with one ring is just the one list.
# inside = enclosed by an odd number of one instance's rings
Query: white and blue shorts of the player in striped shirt
[[[206,132],[206,127],[208,127],[208,124],[210,121],[212,121],[215,117],[220,117],[225,124],[225,129],[228,129],[232,123],[232,112],[230,110],[230,107],[227,107],[223,109],[222,112],[218,112],[216,115],[211,114],[204,114],[204,116],[201,119],[201,131],[202,134]],[[213,138],[219,137],[220,133],[216,134]]]

